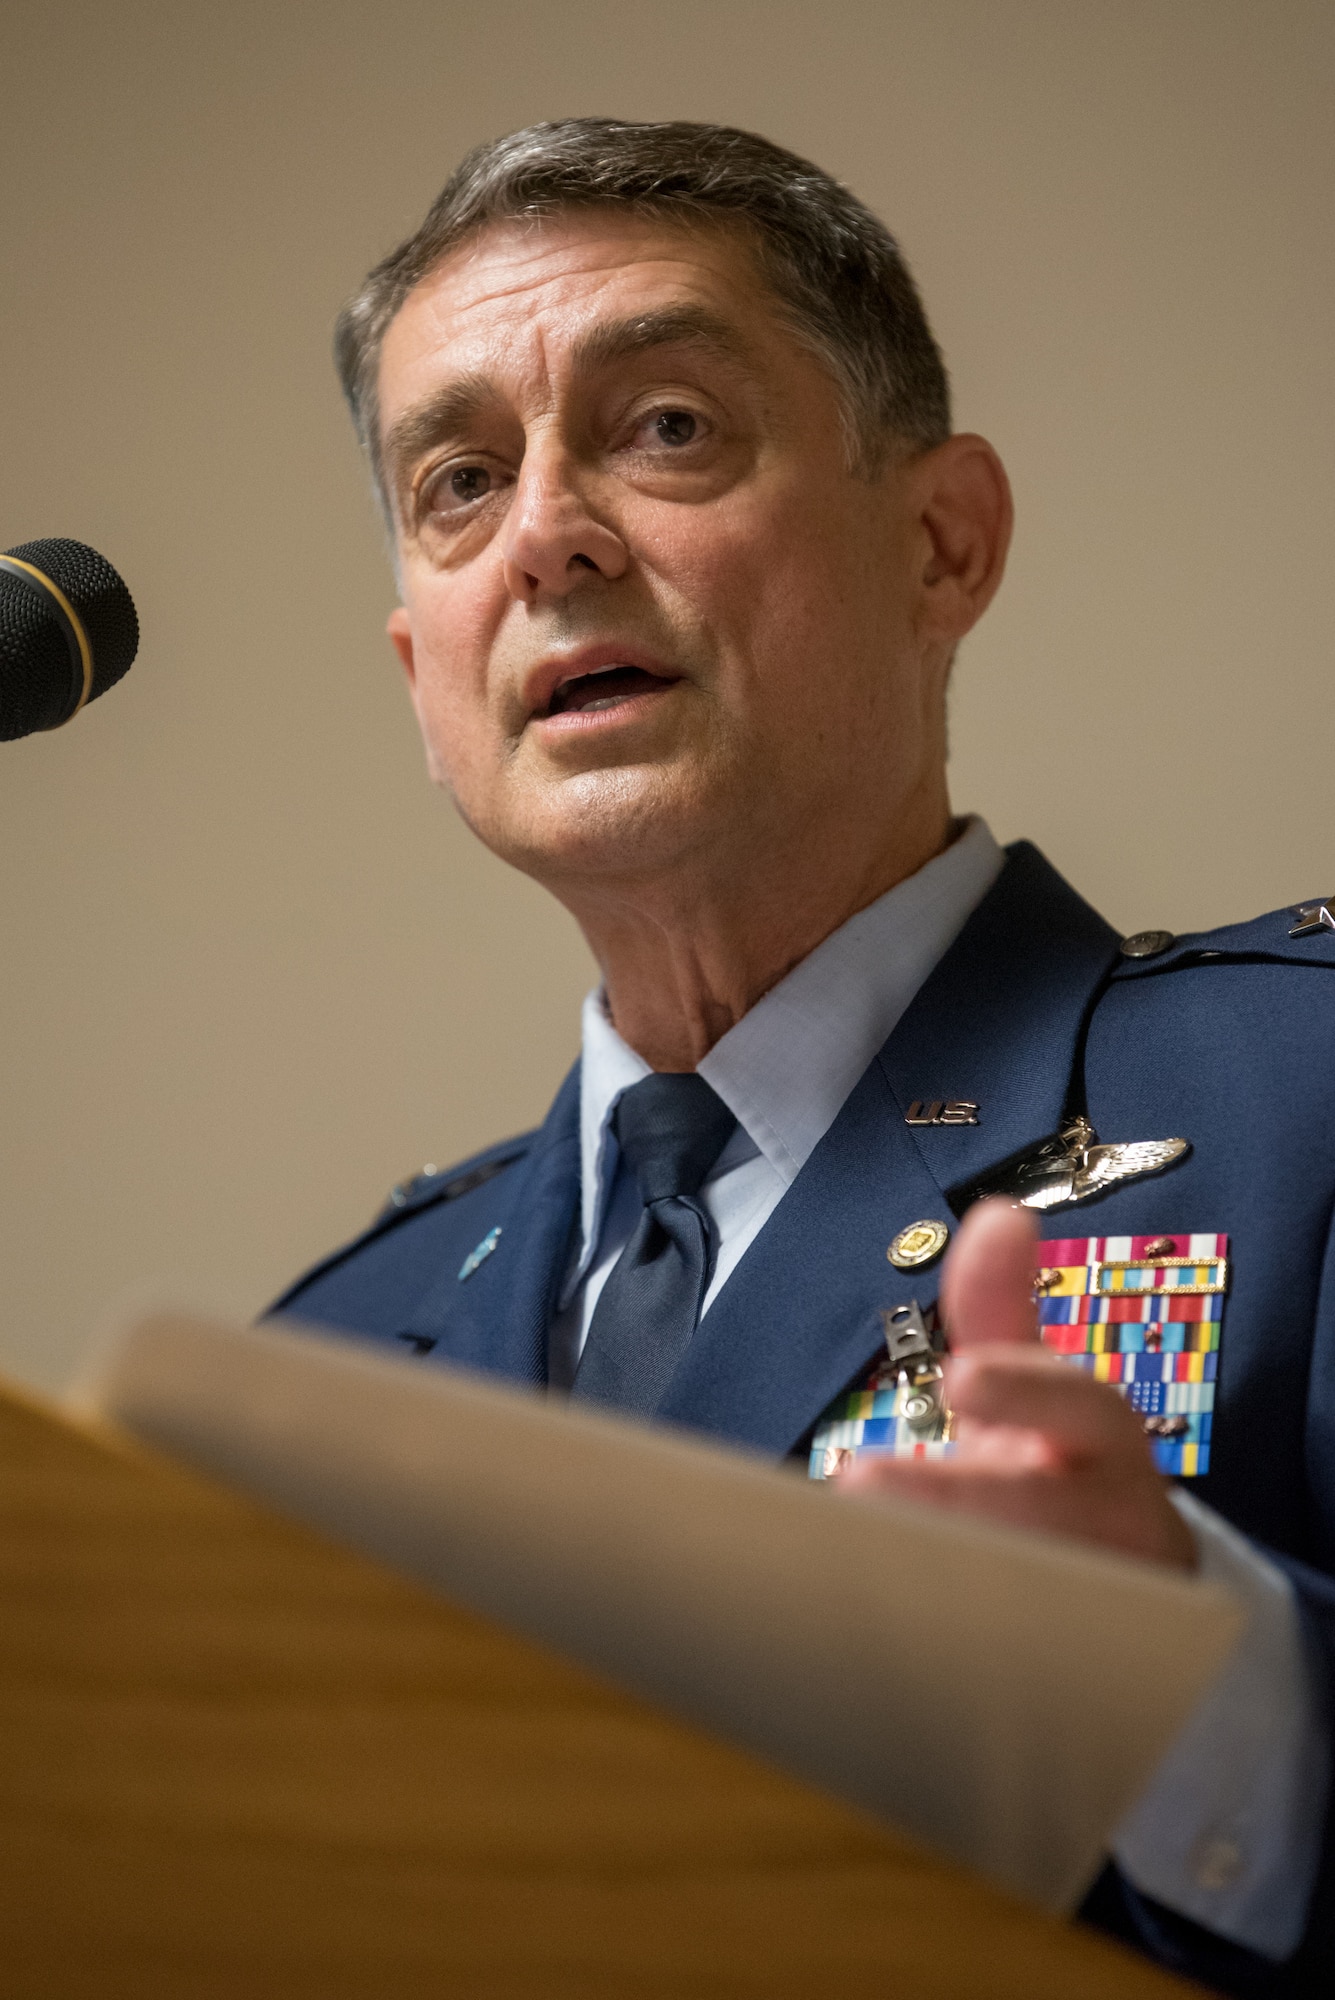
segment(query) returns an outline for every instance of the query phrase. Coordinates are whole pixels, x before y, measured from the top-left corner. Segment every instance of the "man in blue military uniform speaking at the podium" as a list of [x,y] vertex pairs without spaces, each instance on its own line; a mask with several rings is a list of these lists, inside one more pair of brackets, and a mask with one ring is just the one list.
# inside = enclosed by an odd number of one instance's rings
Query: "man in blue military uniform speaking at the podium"
[[1245,1640],[1087,1914],[1325,1992],[1331,910],[1121,940],[951,816],[1009,492],[807,162],[480,148],[338,356],[432,776],[602,986],[544,1126],[278,1310],[1223,1578]]

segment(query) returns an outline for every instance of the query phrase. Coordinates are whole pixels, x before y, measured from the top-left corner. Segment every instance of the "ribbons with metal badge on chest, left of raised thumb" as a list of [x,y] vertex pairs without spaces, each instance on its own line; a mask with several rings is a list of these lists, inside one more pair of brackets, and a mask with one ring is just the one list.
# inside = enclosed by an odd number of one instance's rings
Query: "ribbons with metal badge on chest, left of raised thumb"
[[951,1416],[943,1398],[941,1334],[935,1306],[917,1300],[881,1314],[885,1354],[865,1382],[825,1410],[811,1438],[807,1472],[829,1480],[859,1452],[895,1458],[943,1458]]

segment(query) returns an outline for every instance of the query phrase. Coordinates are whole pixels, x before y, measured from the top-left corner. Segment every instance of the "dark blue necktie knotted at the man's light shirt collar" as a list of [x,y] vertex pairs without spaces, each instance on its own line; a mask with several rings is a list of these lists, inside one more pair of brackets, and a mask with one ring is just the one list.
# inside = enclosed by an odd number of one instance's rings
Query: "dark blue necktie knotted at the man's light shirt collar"
[[602,1288],[574,1396],[648,1416],[695,1332],[713,1270],[713,1226],[699,1184],[727,1144],[733,1114],[703,1076],[634,1084],[612,1114],[644,1214]]

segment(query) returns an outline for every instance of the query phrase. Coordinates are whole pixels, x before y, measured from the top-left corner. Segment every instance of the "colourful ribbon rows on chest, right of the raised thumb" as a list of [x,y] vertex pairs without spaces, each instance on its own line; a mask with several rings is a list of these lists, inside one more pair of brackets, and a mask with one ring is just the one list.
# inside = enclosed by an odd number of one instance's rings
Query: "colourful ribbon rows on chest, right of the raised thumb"
[[1209,1472],[1229,1238],[1061,1236],[1039,1258],[1043,1346],[1141,1412],[1159,1472]]

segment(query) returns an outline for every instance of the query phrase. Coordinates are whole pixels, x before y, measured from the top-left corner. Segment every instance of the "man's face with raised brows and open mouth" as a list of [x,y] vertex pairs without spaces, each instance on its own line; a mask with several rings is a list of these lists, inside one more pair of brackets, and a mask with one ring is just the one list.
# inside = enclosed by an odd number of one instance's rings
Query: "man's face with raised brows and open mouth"
[[504,224],[380,366],[432,774],[568,894],[893,816],[943,758],[907,474],[847,466],[827,370],[727,230]]

